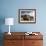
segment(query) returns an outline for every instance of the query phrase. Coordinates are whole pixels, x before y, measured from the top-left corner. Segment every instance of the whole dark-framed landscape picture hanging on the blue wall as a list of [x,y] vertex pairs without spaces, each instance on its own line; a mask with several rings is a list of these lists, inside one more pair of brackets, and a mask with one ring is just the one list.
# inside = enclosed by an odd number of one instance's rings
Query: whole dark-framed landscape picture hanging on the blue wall
[[36,9],[19,9],[19,23],[36,23]]

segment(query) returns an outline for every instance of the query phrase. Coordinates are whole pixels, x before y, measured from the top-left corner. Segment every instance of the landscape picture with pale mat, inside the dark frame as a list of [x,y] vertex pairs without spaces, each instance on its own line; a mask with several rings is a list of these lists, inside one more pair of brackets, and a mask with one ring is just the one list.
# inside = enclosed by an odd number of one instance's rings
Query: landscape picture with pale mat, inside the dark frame
[[35,10],[21,10],[20,22],[35,22]]

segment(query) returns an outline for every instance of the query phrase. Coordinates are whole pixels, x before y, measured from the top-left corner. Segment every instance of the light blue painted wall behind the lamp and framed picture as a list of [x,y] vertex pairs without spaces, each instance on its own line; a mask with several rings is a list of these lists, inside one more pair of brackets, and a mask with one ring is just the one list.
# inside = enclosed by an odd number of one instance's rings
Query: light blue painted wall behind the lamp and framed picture
[[[36,24],[19,24],[18,9],[34,8],[36,9]],[[46,32],[46,0],[0,0],[0,34],[8,32],[8,26],[4,21],[7,17],[14,18],[15,23],[11,26],[11,32]],[[3,40],[2,36],[0,35],[0,40]]]

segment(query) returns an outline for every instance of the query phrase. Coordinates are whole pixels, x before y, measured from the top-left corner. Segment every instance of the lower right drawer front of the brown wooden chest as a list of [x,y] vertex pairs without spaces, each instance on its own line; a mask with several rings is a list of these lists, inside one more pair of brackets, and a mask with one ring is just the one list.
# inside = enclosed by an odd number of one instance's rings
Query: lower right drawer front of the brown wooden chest
[[24,46],[43,46],[42,40],[25,40]]

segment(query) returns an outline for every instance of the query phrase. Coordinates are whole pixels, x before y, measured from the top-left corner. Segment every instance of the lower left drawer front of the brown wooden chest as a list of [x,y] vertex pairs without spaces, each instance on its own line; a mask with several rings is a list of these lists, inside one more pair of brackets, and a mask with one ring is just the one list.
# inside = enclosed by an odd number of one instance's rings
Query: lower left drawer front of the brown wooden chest
[[5,40],[4,46],[23,46],[23,40]]

